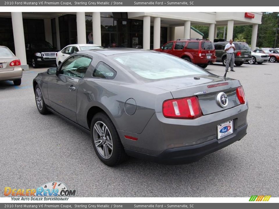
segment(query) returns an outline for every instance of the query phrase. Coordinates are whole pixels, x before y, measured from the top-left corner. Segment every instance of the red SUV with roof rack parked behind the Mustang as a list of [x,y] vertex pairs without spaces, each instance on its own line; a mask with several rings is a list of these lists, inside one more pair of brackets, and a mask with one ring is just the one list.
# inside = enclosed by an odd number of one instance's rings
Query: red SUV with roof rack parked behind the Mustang
[[216,62],[214,45],[208,39],[177,39],[154,50],[183,58],[202,68]]

